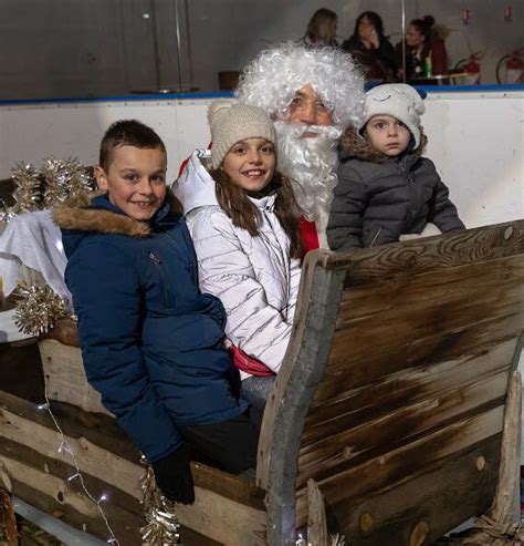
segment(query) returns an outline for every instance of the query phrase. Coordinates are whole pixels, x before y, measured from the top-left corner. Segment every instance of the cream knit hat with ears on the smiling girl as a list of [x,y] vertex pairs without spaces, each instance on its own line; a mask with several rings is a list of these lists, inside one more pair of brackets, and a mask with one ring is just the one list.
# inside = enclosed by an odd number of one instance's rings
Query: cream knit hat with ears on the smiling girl
[[270,116],[259,106],[232,99],[213,101],[208,109],[211,128],[211,166],[218,168],[231,147],[245,138],[265,138],[274,144],[275,130]]

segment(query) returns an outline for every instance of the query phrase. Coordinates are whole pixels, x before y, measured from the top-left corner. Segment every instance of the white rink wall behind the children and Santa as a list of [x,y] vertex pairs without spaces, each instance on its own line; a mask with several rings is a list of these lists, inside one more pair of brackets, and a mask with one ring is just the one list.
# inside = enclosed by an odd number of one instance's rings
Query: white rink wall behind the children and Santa
[[[0,104],[0,178],[18,162],[48,156],[97,162],[107,126],[137,119],[155,128],[168,150],[168,179],[210,135],[210,97],[123,99],[95,102]],[[433,159],[468,227],[524,217],[524,90],[428,93],[426,155]]]

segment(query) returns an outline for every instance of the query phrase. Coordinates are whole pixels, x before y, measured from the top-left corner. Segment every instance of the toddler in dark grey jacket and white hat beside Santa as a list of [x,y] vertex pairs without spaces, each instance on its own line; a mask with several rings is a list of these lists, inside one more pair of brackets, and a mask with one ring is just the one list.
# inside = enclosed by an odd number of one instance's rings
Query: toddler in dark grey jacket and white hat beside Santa
[[463,229],[433,163],[421,157],[425,104],[404,83],[366,93],[364,121],[342,138],[327,225],[332,250],[350,251]]

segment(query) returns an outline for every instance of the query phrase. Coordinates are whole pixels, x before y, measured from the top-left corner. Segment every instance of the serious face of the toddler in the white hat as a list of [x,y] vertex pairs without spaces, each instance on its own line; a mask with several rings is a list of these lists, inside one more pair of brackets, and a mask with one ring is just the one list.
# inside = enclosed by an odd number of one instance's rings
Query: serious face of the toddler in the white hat
[[374,115],[366,124],[365,134],[371,146],[389,157],[406,151],[411,138],[409,128],[396,117]]

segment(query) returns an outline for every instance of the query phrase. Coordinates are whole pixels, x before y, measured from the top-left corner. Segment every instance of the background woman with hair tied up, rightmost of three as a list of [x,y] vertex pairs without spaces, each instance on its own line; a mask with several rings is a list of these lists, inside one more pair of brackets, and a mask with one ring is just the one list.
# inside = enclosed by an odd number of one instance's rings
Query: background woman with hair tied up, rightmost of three
[[[434,18],[413,19],[406,30],[406,80],[444,74],[448,53],[444,41],[433,32]],[[397,44],[401,56],[402,43]]]

